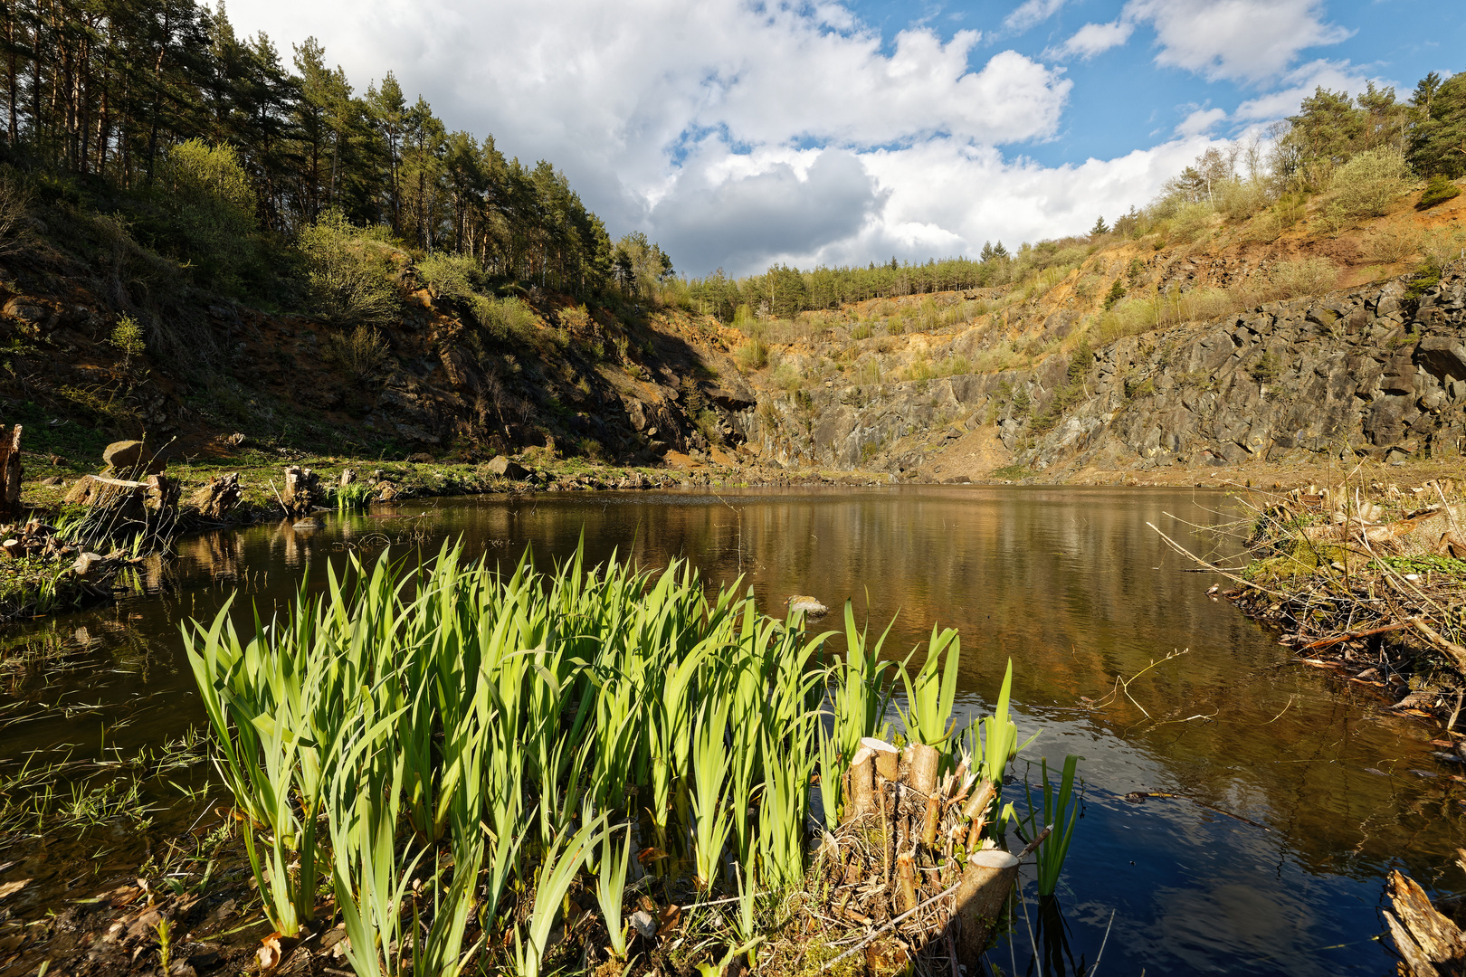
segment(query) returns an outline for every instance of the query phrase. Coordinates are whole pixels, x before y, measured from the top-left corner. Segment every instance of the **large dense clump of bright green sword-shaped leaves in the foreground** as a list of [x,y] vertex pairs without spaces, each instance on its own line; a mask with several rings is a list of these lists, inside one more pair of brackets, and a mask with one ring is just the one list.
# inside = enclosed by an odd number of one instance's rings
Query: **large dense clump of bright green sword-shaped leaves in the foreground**
[[[827,665],[828,634],[759,614],[739,583],[710,596],[683,561],[576,552],[541,574],[528,552],[506,571],[456,546],[416,567],[349,557],[248,642],[236,617],[191,623],[185,647],[265,913],[299,932],[327,879],[364,977],[452,977],[476,954],[556,967],[550,933],[585,873],[626,958],[638,861],[705,891],[732,861],[743,952],[759,896],[808,872],[817,766],[833,825],[841,768],[888,734],[897,675],[922,735],[950,737],[953,631],[913,680],[847,606]],[[1000,706],[1003,766],[1006,691]],[[638,820],[654,835],[639,860]]]

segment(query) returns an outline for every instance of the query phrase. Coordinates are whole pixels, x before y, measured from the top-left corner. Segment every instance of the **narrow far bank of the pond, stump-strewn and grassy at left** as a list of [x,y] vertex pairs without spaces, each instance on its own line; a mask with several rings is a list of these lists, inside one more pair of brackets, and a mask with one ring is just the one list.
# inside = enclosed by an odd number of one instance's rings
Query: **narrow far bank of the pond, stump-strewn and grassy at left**
[[[718,453],[721,454],[721,453]],[[723,456],[727,458],[727,456]],[[65,540],[47,543],[47,536],[56,535],[53,521],[63,523],[66,516],[75,517],[82,507],[67,504],[66,492],[81,478],[92,475],[78,464],[57,464],[59,458],[25,456],[26,478],[22,480],[19,508],[23,516],[0,526],[4,538],[22,543],[26,549],[25,530],[40,527],[40,535],[29,546],[40,552],[23,560],[0,560],[0,627],[10,623],[37,620],[73,609],[97,606],[119,596],[116,579],[130,565],[163,555],[167,545],[151,552],[128,552],[113,546],[95,552],[100,560],[78,573],[78,557],[82,549],[67,546]],[[529,495],[583,491],[671,491],[671,489],[730,489],[730,488],[803,488],[803,486],[1042,486],[1042,488],[1201,488],[1217,491],[1283,491],[1314,482],[1333,483],[1341,476],[1336,466],[1229,466],[1186,467],[1182,470],[1152,469],[1135,472],[1067,472],[1064,478],[1045,479],[1042,473],[1026,473],[1022,478],[956,478],[929,480],[907,478],[877,470],[825,470],[817,467],[770,467],[739,460],[723,463],[708,456],[692,457],[671,453],[660,467],[620,466],[585,458],[561,458],[545,448],[528,448],[513,456],[497,456],[490,461],[450,460],[406,460],[383,461],[350,458],[342,456],[312,456],[287,453],[270,457],[262,451],[240,451],[233,457],[186,458],[170,466],[164,476],[176,482],[179,498],[188,499],[210,479],[223,475],[237,475],[239,501],[216,519],[205,519],[191,511],[186,504],[177,508],[180,529],[173,538],[191,536],[216,529],[252,526],[267,519],[290,517],[292,513],[280,498],[283,470],[298,466],[311,470],[320,479],[320,497],[333,485],[340,485],[342,473],[352,472],[358,483],[366,485],[362,504],[383,504],[427,498],[456,498],[468,495]],[[1406,466],[1385,466],[1360,461],[1352,470],[1355,479],[1369,479],[1375,492],[1403,491],[1400,486],[1445,478],[1454,469],[1445,461],[1423,461]],[[916,475],[912,472],[910,475]],[[1013,473],[1017,475],[1017,473]],[[512,478],[517,476],[517,478]],[[1388,485],[1382,483],[1388,479]],[[311,511],[331,511],[328,504],[314,505]],[[298,517],[308,513],[296,513]],[[16,551],[4,549],[6,555]],[[123,589],[123,593],[126,589]],[[1245,608],[1243,608],[1245,609]]]

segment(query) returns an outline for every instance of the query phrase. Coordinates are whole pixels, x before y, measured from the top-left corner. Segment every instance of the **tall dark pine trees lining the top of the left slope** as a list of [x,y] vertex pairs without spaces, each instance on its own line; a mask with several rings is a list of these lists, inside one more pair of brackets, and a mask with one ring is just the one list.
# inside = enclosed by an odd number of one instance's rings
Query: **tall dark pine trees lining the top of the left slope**
[[358,91],[314,38],[287,62],[265,34],[240,38],[223,4],[7,0],[0,72],[10,160],[147,199],[176,189],[179,146],[192,144],[185,163],[223,146],[214,163],[243,171],[254,224],[277,242],[331,211],[576,294],[671,271],[654,245],[613,243],[550,163],[450,130],[391,72]]

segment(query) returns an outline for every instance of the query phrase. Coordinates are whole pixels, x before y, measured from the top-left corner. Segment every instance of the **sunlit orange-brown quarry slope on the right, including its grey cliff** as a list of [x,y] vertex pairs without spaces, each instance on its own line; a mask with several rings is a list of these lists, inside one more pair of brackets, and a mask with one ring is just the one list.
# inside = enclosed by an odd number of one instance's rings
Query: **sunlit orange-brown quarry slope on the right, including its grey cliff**
[[1190,483],[1454,458],[1462,267],[1419,270],[1466,246],[1466,198],[1418,199],[1343,231],[1315,209],[1283,233],[1264,215],[1190,243],[1098,239],[1019,286],[758,328],[749,448],[916,480]]

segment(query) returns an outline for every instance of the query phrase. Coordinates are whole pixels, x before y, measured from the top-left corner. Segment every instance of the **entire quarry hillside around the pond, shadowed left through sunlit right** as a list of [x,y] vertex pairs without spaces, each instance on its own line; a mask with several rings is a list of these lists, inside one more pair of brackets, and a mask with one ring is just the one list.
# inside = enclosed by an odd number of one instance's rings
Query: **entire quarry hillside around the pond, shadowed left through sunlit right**
[[[393,308],[346,330],[170,281],[53,204],[0,258],[0,397],[29,431],[32,476],[95,469],[108,441],[139,437],[214,463],[529,453],[736,480],[1429,466],[1466,438],[1466,350],[1460,267],[1419,268],[1466,245],[1466,196],[1425,211],[1418,196],[1341,233],[1303,214],[1271,239],[1262,218],[1190,242],[1102,236],[1016,284],[737,328],[614,293],[485,299],[374,242]],[[119,334],[139,278],[172,303],[154,321],[189,330],[172,346]]]

